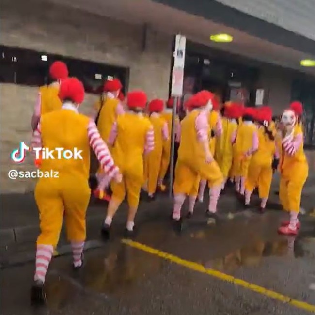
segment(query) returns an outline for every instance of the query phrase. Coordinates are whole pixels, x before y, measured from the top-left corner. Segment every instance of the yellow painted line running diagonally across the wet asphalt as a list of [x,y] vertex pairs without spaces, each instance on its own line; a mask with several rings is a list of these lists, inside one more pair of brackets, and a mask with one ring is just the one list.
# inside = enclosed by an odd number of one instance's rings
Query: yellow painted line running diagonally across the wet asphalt
[[159,250],[157,250],[155,248],[146,246],[144,244],[141,244],[141,243],[129,240],[129,239],[122,239],[122,242],[124,244],[128,245],[128,246],[131,246],[131,247],[136,248],[138,250],[141,250],[143,252],[147,252],[147,253],[150,253],[152,255],[156,255],[156,256],[161,257],[163,259],[169,260],[172,263],[175,263],[177,265],[189,268],[191,270],[195,270],[195,271],[198,271],[198,272],[205,273],[205,274],[207,274],[209,276],[218,278],[220,280],[223,280],[223,281],[226,281],[226,282],[230,282],[232,284],[236,284],[236,285],[242,286],[242,287],[244,287],[246,289],[250,289],[250,290],[252,290],[254,292],[260,293],[260,294],[265,295],[265,296],[267,296],[269,298],[277,299],[277,300],[279,300],[279,301],[281,301],[283,303],[291,304],[291,305],[293,305],[293,306],[295,306],[295,307],[297,307],[299,309],[303,309],[303,310],[315,313],[315,305],[308,304],[306,302],[299,301],[297,299],[291,299],[290,297],[287,297],[287,296],[285,296],[283,294],[280,294],[280,293],[272,291],[272,290],[268,290],[268,289],[266,289],[266,288],[264,288],[262,286],[259,286],[259,285],[256,285],[256,284],[251,284],[251,283],[249,283],[247,281],[244,281],[242,279],[237,279],[237,278],[235,278],[233,276],[230,276],[230,275],[225,274],[223,272],[220,272],[218,270],[205,268],[203,265],[200,265],[198,263],[179,258],[179,257],[177,257],[175,255],[169,254],[167,252],[159,251]]

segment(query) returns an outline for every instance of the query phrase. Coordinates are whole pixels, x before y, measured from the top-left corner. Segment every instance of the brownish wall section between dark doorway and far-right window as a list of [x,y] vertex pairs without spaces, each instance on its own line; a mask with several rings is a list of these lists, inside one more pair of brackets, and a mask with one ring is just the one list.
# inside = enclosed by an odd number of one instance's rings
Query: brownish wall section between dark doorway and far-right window
[[258,81],[258,87],[269,93],[268,105],[274,115],[280,115],[291,100],[292,72],[273,66],[264,66]]

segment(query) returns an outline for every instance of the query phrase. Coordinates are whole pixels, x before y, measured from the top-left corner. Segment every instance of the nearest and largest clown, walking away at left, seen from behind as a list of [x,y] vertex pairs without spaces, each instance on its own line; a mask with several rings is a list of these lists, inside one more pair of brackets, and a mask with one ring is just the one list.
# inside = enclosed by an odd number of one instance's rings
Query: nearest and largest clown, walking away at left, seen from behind
[[[73,267],[82,266],[82,253],[86,237],[86,210],[91,190],[88,185],[90,146],[109,178],[121,181],[119,169],[102,141],[94,120],[79,114],[78,107],[84,99],[83,84],[76,78],[61,82],[59,97],[62,107],[41,116],[34,131],[32,147],[49,148],[53,158],[41,160],[44,174],[35,187],[35,200],[39,209],[40,235],[37,238],[36,270],[31,287],[31,302],[45,303],[45,278],[47,269],[59,241],[63,216],[73,251]],[[55,148],[67,148],[57,153]],[[79,155],[75,152],[79,152]],[[72,153],[72,154],[71,154]],[[72,157],[71,157],[72,156]]]

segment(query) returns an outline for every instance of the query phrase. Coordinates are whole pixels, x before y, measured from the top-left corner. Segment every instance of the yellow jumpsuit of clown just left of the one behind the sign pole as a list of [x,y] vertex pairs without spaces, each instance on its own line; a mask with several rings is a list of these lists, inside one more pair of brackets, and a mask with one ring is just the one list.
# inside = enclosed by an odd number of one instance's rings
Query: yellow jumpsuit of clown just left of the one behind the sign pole
[[[152,114],[150,122],[154,130],[154,149],[144,157],[144,181],[147,183],[148,194],[153,195],[157,189],[163,151],[163,127],[166,123],[160,115]],[[165,140],[167,141],[167,140]]]

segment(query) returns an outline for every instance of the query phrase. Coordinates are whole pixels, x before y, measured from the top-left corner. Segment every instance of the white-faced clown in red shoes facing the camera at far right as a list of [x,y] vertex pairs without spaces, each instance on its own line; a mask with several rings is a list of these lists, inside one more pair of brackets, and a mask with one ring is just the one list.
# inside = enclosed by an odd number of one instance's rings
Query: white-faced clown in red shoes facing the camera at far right
[[290,213],[290,220],[284,221],[278,231],[285,235],[298,233],[301,194],[309,170],[303,149],[303,133],[297,121],[295,111],[284,110],[281,117],[283,134],[279,162],[279,198],[284,210]]

